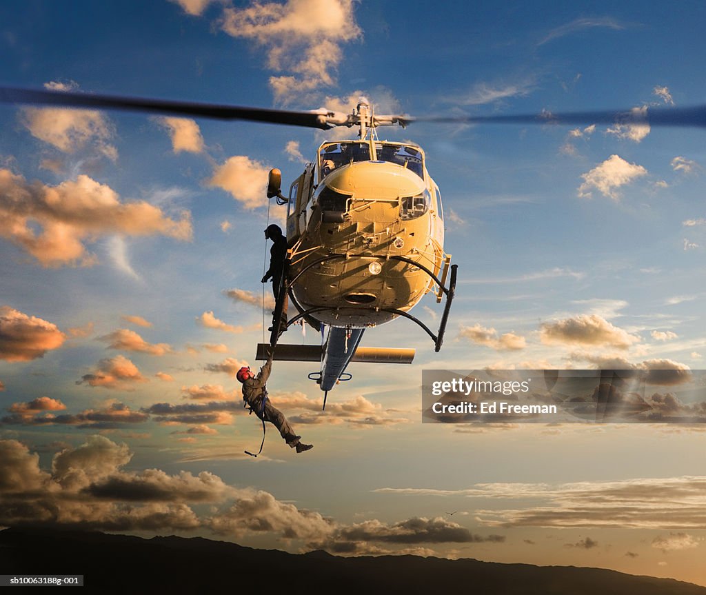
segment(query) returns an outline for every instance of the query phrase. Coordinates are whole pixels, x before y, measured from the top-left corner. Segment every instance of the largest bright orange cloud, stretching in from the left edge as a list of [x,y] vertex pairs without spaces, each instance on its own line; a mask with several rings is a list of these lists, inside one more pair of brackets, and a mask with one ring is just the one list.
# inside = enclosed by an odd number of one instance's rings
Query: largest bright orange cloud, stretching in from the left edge
[[[35,224],[41,227],[39,234]],[[43,266],[95,264],[85,242],[106,234],[190,240],[191,217],[182,212],[181,220],[172,220],[150,203],[121,203],[112,188],[83,174],[46,186],[0,169],[0,236]]]

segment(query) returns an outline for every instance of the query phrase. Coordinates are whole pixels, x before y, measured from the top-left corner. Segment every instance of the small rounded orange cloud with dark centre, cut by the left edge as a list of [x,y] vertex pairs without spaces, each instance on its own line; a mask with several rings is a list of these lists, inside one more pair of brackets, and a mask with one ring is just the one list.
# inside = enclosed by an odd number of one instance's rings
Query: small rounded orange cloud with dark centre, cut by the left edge
[[28,316],[10,306],[0,306],[0,359],[30,361],[57,349],[66,335],[56,325]]

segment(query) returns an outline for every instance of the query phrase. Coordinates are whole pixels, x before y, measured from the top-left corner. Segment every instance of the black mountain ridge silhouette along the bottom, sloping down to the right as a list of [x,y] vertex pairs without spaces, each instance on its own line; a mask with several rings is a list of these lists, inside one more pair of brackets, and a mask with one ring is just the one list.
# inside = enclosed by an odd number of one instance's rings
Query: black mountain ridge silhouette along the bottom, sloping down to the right
[[383,555],[290,554],[201,537],[143,539],[100,532],[0,531],[0,574],[83,575],[100,593],[365,595],[706,595],[706,587],[601,568]]

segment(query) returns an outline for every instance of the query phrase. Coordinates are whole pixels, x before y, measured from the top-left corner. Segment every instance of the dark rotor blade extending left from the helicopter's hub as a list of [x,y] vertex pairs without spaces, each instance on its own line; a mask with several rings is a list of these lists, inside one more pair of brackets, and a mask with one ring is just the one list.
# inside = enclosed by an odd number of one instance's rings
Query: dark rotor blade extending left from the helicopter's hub
[[270,124],[289,124],[308,128],[330,128],[325,114],[318,112],[296,112],[288,109],[265,109],[192,103],[140,97],[116,97],[114,95],[92,95],[52,91],[44,89],[21,89],[0,87],[1,103],[24,103],[52,105],[56,107],[78,107],[92,109],[121,109],[130,112],[173,114],[176,116],[201,116],[220,120],[250,120]]

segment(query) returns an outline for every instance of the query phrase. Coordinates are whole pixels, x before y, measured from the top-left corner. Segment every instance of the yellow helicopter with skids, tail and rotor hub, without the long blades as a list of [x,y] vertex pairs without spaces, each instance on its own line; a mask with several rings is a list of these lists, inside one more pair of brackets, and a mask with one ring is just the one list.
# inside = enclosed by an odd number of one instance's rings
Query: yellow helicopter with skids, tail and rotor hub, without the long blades
[[[259,344],[257,357],[265,359],[272,346],[275,359],[321,361],[321,371],[309,378],[325,395],[350,378],[350,361],[412,362],[414,349],[361,347],[366,328],[402,316],[426,330],[436,351],[443,342],[457,265],[443,250],[441,194],[424,150],[376,138],[378,126],[396,122],[402,116],[376,117],[361,100],[343,124],[359,126],[359,138],[323,143],[288,197],[279,170],[270,172],[268,197],[287,204],[289,268],[270,344]],[[409,314],[435,288],[437,301],[446,296],[436,334]],[[299,311],[287,325],[304,319],[317,330],[328,327],[322,347],[277,344],[286,296]]]

